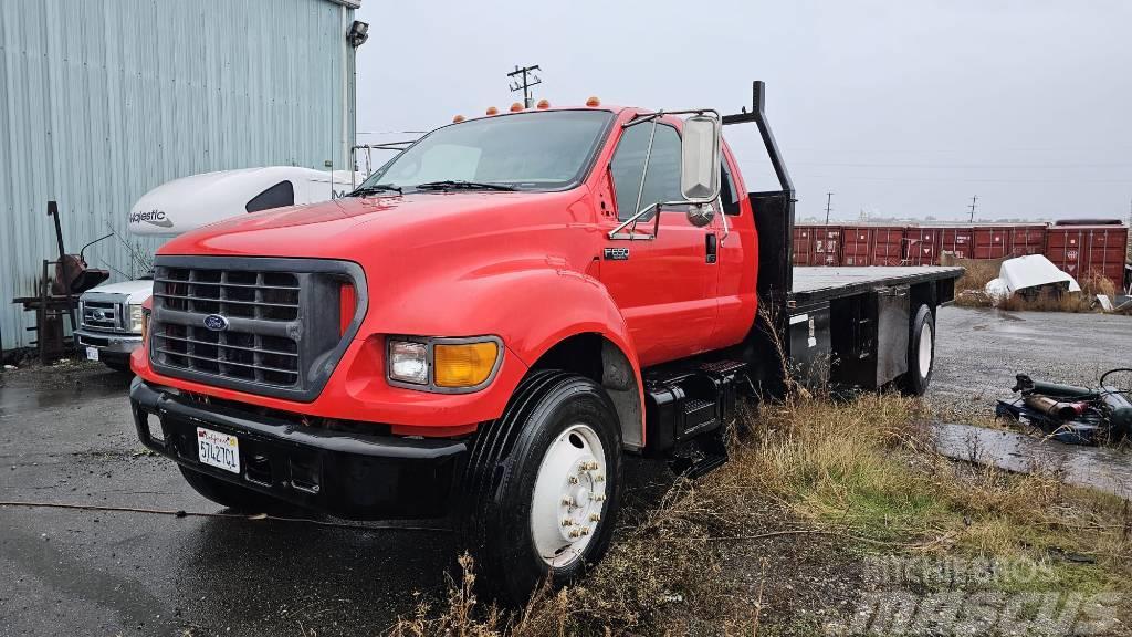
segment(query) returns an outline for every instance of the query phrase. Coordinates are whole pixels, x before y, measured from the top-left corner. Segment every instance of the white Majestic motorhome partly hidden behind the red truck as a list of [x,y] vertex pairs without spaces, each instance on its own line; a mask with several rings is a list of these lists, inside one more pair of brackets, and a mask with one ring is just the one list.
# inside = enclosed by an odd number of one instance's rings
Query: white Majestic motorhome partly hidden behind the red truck
[[[174,237],[224,219],[280,206],[340,197],[360,182],[350,171],[273,165],[204,172],[162,184],[130,210],[130,233]],[[148,277],[108,283],[79,297],[83,354],[129,372],[129,356],[142,345],[142,304],[153,294]]]

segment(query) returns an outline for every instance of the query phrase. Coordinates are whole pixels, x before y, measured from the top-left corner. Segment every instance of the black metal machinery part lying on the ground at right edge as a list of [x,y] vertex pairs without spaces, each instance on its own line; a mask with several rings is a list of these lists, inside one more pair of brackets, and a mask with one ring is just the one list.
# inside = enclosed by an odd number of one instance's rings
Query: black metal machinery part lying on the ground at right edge
[[1117,373],[1132,374],[1132,370],[1105,372],[1097,388],[1035,381],[1018,374],[1011,391],[1019,393],[1019,398],[1000,400],[995,417],[1013,418],[1067,444],[1120,442],[1132,438],[1132,388],[1107,382]]

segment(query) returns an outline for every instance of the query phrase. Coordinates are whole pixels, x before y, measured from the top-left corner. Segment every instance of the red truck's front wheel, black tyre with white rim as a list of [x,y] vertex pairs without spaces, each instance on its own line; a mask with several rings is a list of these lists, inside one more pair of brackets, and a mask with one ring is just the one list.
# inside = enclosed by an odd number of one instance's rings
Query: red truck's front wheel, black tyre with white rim
[[620,427],[604,390],[537,372],[477,438],[464,540],[486,592],[522,604],[547,578],[581,576],[609,546],[620,493]]

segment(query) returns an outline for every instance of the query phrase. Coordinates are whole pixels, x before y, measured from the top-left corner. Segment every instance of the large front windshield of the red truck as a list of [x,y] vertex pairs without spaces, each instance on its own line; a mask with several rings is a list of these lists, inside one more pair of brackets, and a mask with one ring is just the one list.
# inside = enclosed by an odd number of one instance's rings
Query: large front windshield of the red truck
[[568,188],[582,178],[612,117],[589,110],[525,112],[438,128],[379,168],[359,192],[438,182]]

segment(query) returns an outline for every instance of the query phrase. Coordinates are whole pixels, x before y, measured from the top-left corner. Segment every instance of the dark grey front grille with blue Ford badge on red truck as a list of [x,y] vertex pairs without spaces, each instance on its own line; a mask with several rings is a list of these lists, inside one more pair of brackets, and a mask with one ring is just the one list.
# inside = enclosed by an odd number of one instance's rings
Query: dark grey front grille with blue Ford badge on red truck
[[[353,308],[343,307],[344,287],[354,290]],[[357,332],[367,297],[350,262],[163,256],[153,299],[149,359],[158,373],[310,401]]]

